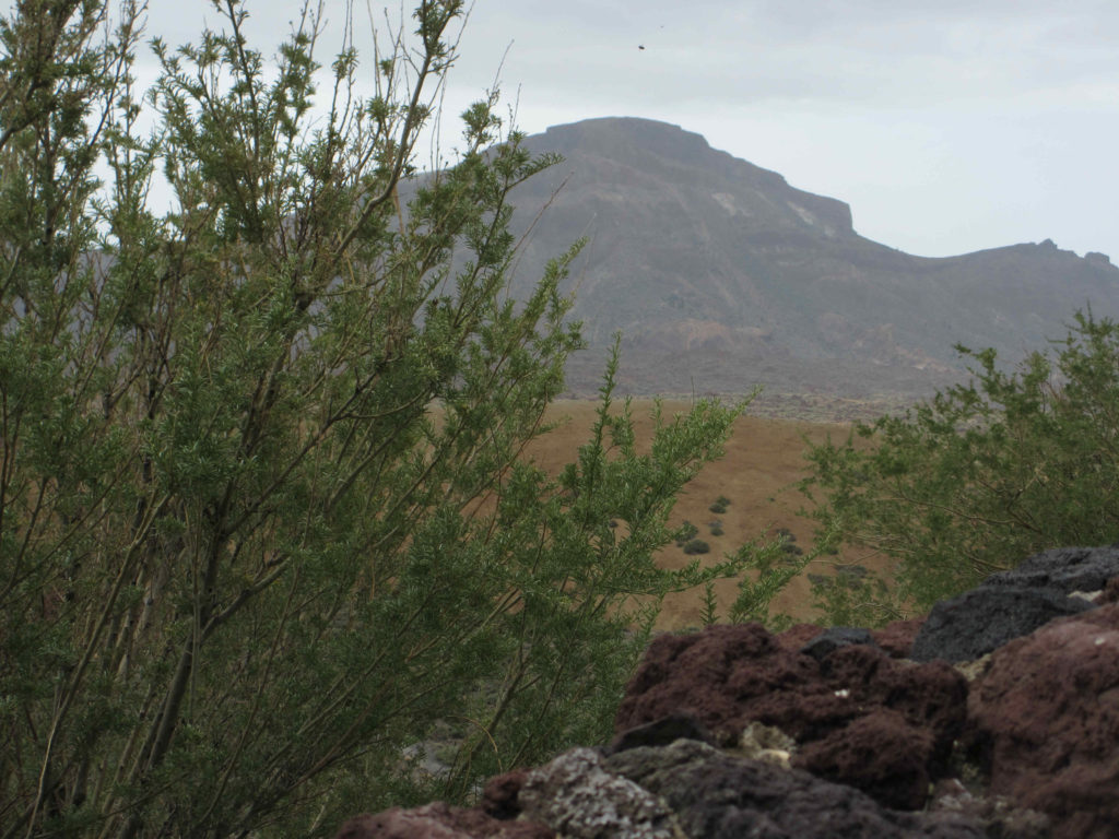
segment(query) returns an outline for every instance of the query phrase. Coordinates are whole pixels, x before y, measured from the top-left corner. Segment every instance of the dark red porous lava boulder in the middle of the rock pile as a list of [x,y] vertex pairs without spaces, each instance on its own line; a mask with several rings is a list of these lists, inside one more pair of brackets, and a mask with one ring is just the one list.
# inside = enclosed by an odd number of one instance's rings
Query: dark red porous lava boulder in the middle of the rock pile
[[734,745],[747,724],[764,723],[797,741],[794,765],[915,809],[962,730],[966,699],[966,680],[944,662],[895,661],[867,644],[817,661],[759,624],[709,626],[653,641],[615,726],[686,713]]

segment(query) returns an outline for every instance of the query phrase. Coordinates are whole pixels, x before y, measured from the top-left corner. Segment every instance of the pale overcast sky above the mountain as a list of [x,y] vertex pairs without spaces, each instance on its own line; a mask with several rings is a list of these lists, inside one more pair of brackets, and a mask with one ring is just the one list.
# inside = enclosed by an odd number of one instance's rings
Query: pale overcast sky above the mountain
[[[337,26],[345,3],[325,4]],[[219,22],[203,0],[151,7],[172,44]],[[248,0],[257,46],[299,7]],[[355,19],[367,32],[364,4]],[[505,55],[529,133],[664,120],[909,253],[1052,238],[1119,263],[1117,32],[1116,0],[477,0],[445,104],[461,112]]]

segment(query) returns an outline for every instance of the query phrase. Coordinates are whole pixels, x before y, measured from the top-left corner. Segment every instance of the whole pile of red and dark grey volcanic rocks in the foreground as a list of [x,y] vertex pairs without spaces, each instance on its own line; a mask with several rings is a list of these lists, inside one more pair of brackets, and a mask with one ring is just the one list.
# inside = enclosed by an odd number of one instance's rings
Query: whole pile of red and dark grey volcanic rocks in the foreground
[[661,635],[617,730],[476,808],[338,837],[1113,839],[1119,547],[1038,554],[877,632]]

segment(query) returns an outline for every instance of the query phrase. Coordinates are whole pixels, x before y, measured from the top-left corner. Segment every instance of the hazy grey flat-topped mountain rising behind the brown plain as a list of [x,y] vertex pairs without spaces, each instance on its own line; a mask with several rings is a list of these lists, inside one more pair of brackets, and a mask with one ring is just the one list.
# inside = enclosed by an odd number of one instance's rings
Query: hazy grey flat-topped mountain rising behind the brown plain
[[568,369],[575,393],[598,387],[618,330],[631,393],[912,396],[959,377],[956,343],[1021,359],[1076,309],[1119,317],[1102,254],[1045,241],[911,256],[859,236],[843,201],[676,125],[587,120],[526,145],[564,162],[514,194],[532,224],[515,292],[589,237],[571,281],[591,346]]

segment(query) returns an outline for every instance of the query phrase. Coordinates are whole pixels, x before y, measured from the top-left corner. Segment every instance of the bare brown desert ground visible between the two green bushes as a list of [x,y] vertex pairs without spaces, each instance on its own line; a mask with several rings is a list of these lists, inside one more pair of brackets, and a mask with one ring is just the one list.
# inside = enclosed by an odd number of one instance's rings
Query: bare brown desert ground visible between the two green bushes
[[[686,399],[662,402],[666,417],[686,412]],[[638,441],[652,435],[652,399],[634,399],[632,414]],[[579,446],[590,437],[598,403],[581,399],[555,402],[547,415],[560,426],[536,441],[529,450],[542,468],[552,473],[574,460]],[[812,544],[814,522],[798,512],[808,501],[797,491],[796,483],[805,477],[805,451],[808,442],[820,443],[830,434],[841,440],[850,428],[846,423],[806,422],[751,415],[740,416],[726,444],[726,455],[707,464],[685,488],[677,499],[670,518],[673,526],[688,520],[699,528],[698,538],[711,545],[711,553],[700,556],[704,563],[715,563],[733,553],[744,543],[761,536],[772,537],[779,528],[790,531],[796,544],[806,552]],[[714,513],[707,508],[720,497],[731,500],[726,512]],[[723,535],[711,535],[711,522],[722,522]],[[657,555],[661,567],[678,568],[690,562],[683,548],[669,545]],[[874,568],[875,563],[862,557],[841,555],[817,559],[805,574],[793,579],[771,606],[771,614],[786,613],[798,621],[810,621],[816,615],[810,583],[812,574],[831,574],[836,562],[859,563]],[[735,581],[720,581],[715,585],[720,615],[725,620],[726,609],[737,595]],[[665,603],[658,630],[681,630],[700,624],[703,592],[670,595]]]

